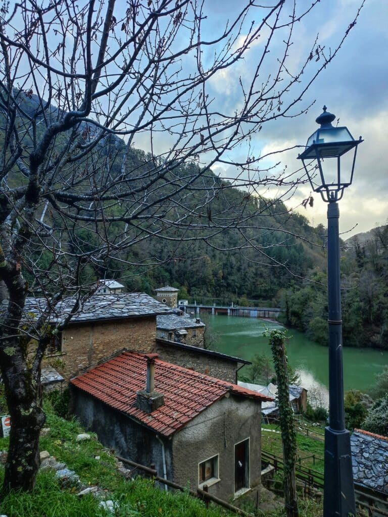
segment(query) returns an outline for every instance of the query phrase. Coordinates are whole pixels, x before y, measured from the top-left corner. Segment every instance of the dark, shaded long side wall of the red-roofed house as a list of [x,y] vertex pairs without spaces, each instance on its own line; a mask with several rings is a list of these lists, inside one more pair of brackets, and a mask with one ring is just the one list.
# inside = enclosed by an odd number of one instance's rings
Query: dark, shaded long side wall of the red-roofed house
[[[97,433],[99,442],[123,458],[146,467],[154,464],[158,475],[163,477],[162,446],[155,433],[74,386],[71,395],[72,412],[87,430]],[[167,478],[172,479],[171,441],[164,439],[163,443]]]

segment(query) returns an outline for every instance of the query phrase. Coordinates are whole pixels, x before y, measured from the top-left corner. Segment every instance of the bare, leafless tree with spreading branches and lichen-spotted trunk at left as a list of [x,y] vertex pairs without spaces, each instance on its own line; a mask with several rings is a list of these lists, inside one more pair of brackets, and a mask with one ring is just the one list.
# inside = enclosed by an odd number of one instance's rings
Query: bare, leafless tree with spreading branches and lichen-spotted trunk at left
[[[111,260],[155,267],[198,239],[217,247],[224,230],[238,232],[243,248],[256,246],[260,187],[292,193],[298,172],[260,170],[265,157],[252,156],[249,145],[244,160],[231,156],[268,121],[308,108],[298,103],[343,41],[326,51],[315,39],[291,73],[293,34],[315,4],[258,7],[247,0],[206,38],[205,7],[195,0],[129,0],[125,9],[114,0],[4,3],[0,280],[8,303],[0,366],[12,420],[5,490],[34,486],[44,423],[40,364],[52,337],[92,293],[81,290],[88,268]],[[277,34],[282,48],[271,59]],[[259,41],[256,66],[247,78],[235,77],[240,102],[228,112],[212,95],[212,81],[227,71],[233,77]],[[216,163],[233,164],[240,175],[218,178],[211,172]],[[138,245],[157,239],[173,245],[167,258],[152,251],[154,244],[149,256],[136,254]],[[258,251],[266,260],[266,250]],[[69,293],[70,312],[53,320]],[[37,318],[23,312],[31,294],[41,296]]]

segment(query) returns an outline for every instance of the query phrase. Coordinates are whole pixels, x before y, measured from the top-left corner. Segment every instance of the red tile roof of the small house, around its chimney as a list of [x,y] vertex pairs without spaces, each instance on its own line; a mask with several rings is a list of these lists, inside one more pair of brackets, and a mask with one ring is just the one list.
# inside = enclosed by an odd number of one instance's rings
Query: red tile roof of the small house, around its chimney
[[145,389],[148,357],[156,354],[124,352],[70,382],[164,436],[184,427],[228,392],[258,402],[272,400],[256,391],[155,359],[155,391],[164,395],[165,403],[151,414],[145,413],[136,406],[136,393]]

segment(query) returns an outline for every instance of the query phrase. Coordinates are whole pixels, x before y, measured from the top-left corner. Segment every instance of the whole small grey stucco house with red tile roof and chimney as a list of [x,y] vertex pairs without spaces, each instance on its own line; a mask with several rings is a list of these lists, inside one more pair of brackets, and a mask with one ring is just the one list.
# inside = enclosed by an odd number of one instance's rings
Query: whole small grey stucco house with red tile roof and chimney
[[207,484],[228,499],[261,482],[261,402],[267,397],[124,352],[71,379],[72,408],[100,442],[160,476]]

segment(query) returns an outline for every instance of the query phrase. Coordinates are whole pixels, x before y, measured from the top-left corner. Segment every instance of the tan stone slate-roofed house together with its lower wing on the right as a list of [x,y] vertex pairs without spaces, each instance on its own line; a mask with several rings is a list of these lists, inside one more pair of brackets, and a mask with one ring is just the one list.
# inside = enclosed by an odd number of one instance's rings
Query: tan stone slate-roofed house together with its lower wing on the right
[[[46,303],[43,298],[26,299],[25,320],[30,325],[34,325],[40,308],[44,308]],[[72,297],[65,298],[56,307],[51,321],[60,322],[71,310],[73,303]],[[236,382],[237,370],[244,364],[250,364],[249,361],[196,346],[180,346],[179,343],[156,339],[157,317],[172,312],[168,306],[145,293],[95,294],[84,303],[82,310],[72,317],[62,332],[53,338],[49,353],[42,363],[43,373],[55,364],[59,376],[68,382],[70,377],[125,348],[143,353],[158,352],[161,359],[228,382]],[[61,361],[59,365],[58,360]]]

